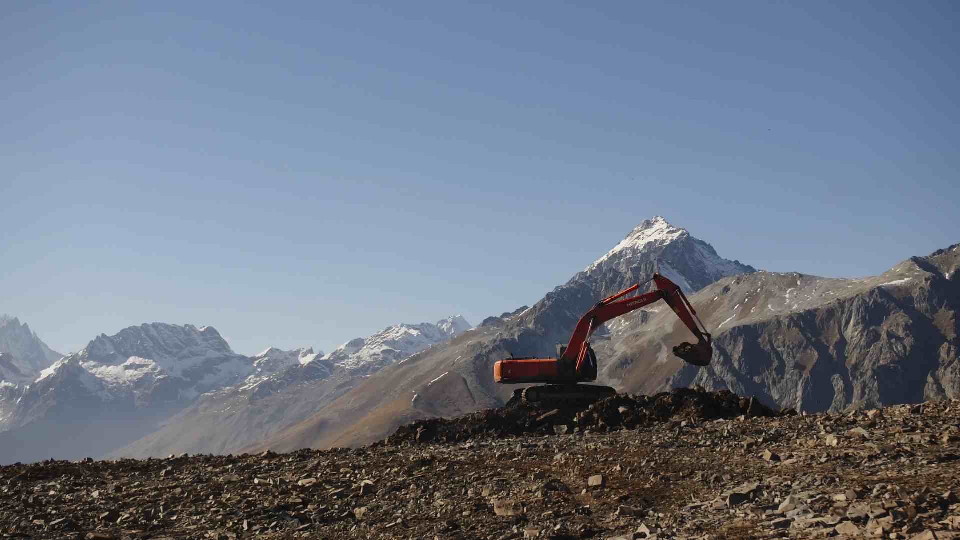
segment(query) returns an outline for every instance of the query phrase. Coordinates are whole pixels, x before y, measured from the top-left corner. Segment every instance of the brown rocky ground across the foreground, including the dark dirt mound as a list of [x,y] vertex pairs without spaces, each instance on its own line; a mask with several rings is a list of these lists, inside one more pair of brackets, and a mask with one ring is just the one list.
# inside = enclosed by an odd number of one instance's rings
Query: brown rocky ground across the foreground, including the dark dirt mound
[[0,536],[960,538],[960,401],[790,412],[680,389],[353,450],[13,464]]

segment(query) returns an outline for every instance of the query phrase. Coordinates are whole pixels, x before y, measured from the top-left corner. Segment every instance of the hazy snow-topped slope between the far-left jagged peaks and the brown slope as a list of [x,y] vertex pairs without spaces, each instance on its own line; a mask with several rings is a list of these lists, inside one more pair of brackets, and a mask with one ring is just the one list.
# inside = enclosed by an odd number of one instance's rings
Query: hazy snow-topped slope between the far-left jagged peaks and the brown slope
[[282,366],[269,376],[251,375],[243,383],[201,396],[196,403],[111,456],[165,456],[171,453],[237,452],[276,434],[357,386],[385,365],[444,343],[470,327],[464,317],[436,324],[394,324],[357,338],[321,357],[309,349],[271,347],[253,364]]

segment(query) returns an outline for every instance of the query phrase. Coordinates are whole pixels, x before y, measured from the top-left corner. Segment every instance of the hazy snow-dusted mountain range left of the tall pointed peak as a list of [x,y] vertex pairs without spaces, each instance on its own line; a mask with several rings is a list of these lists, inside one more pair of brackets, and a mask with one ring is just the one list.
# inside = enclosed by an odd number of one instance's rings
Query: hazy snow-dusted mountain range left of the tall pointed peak
[[[22,338],[8,340],[19,343],[15,351],[45,350],[45,345],[24,341],[23,326],[16,324],[21,330],[10,323],[12,330],[5,332]],[[5,370],[0,382],[0,462],[102,456],[128,447],[131,453],[143,447],[149,454],[171,444],[193,452],[227,450],[231,441],[233,446],[247,444],[300,420],[323,406],[328,395],[313,392],[312,399],[296,406],[282,404],[260,417],[263,404],[276,401],[274,393],[319,384],[331,376],[341,387],[348,386],[345,381],[468,327],[463,317],[453,316],[436,324],[392,325],[328,355],[309,348],[269,347],[254,357],[233,352],[212,326],[153,322],[125,328],[113,336],[98,336],[80,352],[55,362],[50,358],[56,353],[44,360],[35,355],[30,357],[31,370]],[[26,365],[14,358],[4,353],[3,365]],[[8,380],[8,371],[17,378]],[[336,387],[331,392],[339,395]],[[243,420],[236,412],[221,407],[237,399],[250,406],[245,412],[255,416],[252,425],[238,424]],[[178,433],[165,439],[164,430],[171,427]],[[143,437],[148,438],[139,441]]]

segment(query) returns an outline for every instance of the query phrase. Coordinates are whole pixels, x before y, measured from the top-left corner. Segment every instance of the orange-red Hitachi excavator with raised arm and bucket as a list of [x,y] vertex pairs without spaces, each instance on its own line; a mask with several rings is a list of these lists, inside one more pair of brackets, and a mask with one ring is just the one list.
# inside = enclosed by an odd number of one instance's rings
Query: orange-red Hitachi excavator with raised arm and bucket
[[[656,286],[653,291],[624,298],[649,281],[653,281]],[[659,273],[655,273],[650,280],[597,302],[583,317],[580,317],[569,342],[565,346],[557,344],[557,358],[512,357],[498,360],[493,364],[493,380],[503,384],[548,383],[540,387],[515,390],[515,396],[519,394],[517,397],[528,403],[595,401],[611,395],[615,392],[612,387],[580,384],[593,381],[597,377],[597,361],[593,349],[590,348],[590,335],[604,322],[650,305],[657,300],[666,302],[697,339],[696,343],[684,341],[673,347],[673,354],[688,364],[709,364],[713,347],[710,344],[707,328],[697,317],[697,312],[693,310],[693,306],[690,305],[680,287]]]

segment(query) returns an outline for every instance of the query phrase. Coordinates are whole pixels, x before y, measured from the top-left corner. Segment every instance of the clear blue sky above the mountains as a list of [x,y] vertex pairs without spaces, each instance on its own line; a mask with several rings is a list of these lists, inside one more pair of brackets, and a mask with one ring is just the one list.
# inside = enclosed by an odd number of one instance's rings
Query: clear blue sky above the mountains
[[0,8],[0,312],[330,350],[663,215],[764,270],[960,242],[952,2]]

